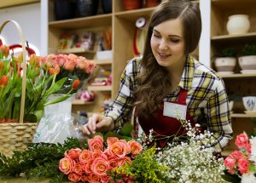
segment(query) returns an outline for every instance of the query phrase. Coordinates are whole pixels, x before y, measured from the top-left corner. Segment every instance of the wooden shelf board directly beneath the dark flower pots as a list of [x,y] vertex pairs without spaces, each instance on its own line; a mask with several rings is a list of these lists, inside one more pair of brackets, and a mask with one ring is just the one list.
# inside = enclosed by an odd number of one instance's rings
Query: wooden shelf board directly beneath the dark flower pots
[[49,27],[78,29],[84,27],[102,27],[111,25],[111,14],[99,14],[96,16],[89,16],[70,20],[50,21]]

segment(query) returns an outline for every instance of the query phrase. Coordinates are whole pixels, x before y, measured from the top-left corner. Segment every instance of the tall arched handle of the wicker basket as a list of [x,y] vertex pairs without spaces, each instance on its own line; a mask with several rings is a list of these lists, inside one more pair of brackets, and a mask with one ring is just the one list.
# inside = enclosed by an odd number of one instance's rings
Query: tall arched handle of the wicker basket
[[20,25],[15,20],[6,20],[3,22],[2,26],[0,27],[0,34],[3,31],[3,27],[6,26],[9,22],[12,22],[19,33],[20,41],[21,41],[21,47],[22,47],[22,55],[23,55],[23,61],[22,61],[22,88],[21,88],[21,101],[20,101],[20,123],[23,123],[23,117],[24,117],[24,107],[25,107],[25,96],[26,96],[26,44],[25,44],[25,38],[23,31],[21,30]]

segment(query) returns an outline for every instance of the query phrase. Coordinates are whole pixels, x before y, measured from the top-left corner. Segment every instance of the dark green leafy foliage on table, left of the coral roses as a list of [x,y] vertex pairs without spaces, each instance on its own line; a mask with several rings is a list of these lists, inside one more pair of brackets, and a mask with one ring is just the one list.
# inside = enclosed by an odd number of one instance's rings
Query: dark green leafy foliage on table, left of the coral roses
[[19,176],[51,178],[60,182],[63,178],[58,164],[63,153],[75,148],[83,148],[79,140],[69,138],[63,145],[37,143],[31,144],[25,152],[15,152],[13,157],[0,154],[0,176]]

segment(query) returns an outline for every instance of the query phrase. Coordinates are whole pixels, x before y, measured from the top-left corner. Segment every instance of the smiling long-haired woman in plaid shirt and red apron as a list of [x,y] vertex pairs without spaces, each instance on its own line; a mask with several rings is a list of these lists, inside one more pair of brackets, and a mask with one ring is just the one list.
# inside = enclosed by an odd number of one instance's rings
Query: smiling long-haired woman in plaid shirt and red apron
[[143,131],[177,134],[181,117],[213,133],[208,146],[221,152],[231,139],[230,111],[223,80],[189,55],[199,43],[201,13],[196,3],[167,0],[148,24],[143,58],[130,60],[121,76],[119,94],[104,115],[93,115],[84,134],[119,129],[136,107]]

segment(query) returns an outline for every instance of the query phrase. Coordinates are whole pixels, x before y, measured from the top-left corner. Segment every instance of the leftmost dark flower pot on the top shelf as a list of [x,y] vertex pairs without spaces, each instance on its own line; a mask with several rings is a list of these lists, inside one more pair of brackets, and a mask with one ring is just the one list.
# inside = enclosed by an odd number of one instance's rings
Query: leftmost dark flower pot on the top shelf
[[76,15],[76,3],[70,0],[55,0],[55,20],[73,19]]

